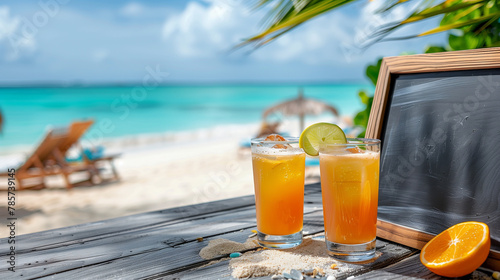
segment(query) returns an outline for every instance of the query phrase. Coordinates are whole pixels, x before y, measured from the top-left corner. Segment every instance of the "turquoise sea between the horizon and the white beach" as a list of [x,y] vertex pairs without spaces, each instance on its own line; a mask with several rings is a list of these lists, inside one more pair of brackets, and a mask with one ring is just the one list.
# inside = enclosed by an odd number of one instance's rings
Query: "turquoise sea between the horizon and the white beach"
[[[335,106],[340,115],[363,108],[358,90],[373,91],[368,84],[302,88],[305,97]],[[291,85],[0,88],[0,147],[34,145],[49,125],[88,118],[112,123],[106,137],[256,123],[266,108],[297,97],[297,91]]]

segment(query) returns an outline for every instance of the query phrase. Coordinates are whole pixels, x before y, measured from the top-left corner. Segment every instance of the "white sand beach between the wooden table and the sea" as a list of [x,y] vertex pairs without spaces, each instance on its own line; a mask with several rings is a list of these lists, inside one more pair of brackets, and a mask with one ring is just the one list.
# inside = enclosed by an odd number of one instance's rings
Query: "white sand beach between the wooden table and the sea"
[[[251,195],[251,154],[240,143],[258,127],[235,125],[107,140],[103,144],[108,152],[121,153],[115,160],[120,180],[67,190],[59,178],[50,181],[48,189],[17,191],[17,234]],[[5,163],[13,156],[4,154],[0,160]],[[319,169],[308,168],[306,177],[309,183],[319,181]],[[5,191],[3,196],[6,201]],[[7,235],[2,227],[0,237]]]

